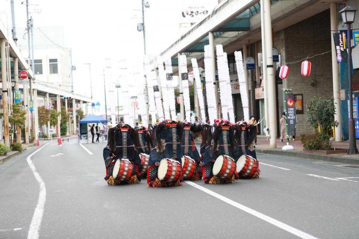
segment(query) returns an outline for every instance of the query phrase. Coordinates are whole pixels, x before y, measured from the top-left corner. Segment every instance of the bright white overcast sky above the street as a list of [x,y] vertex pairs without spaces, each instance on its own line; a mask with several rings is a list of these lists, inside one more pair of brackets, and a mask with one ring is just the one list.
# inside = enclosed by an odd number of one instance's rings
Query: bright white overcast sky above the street
[[[0,1],[9,6],[10,0]],[[23,28],[26,2],[14,2],[15,25]],[[159,54],[180,37],[179,24],[188,22],[182,11],[190,6],[211,11],[216,3],[217,0],[149,0],[150,8],[145,9],[147,54]],[[34,4],[29,7],[34,27],[64,27],[64,47],[72,48],[76,66],[73,75],[76,93],[90,96],[89,70],[84,63],[91,63],[93,98],[101,104],[105,58],[111,58],[114,79],[118,76],[118,62],[123,58],[128,59],[132,68],[138,65],[142,70],[143,32],[137,32],[137,23],[142,22],[141,0],[29,0],[29,4]],[[10,10],[1,5],[0,10]],[[130,93],[136,94],[135,89]]]

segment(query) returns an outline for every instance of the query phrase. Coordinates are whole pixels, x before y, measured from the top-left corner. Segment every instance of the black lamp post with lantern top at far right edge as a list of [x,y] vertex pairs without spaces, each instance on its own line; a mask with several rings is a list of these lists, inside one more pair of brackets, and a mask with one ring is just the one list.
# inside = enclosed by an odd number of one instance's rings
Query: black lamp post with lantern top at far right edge
[[353,89],[351,85],[351,43],[350,43],[350,25],[354,22],[356,9],[351,6],[346,6],[339,11],[343,23],[346,24],[347,30],[347,47],[348,47],[348,76],[349,76],[349,152],[348,154],[358,154],[358,149],[356,148],[356,139],[355,139],[355,125],[353,120]]

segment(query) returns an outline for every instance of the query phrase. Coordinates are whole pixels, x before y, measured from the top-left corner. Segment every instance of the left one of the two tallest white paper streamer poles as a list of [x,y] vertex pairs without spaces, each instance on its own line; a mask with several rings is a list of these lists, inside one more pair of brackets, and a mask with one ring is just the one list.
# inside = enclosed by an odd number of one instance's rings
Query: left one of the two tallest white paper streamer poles
[[214,120],[217,118],[217,106],[216,106],[216,95],[213,87],[213,67],[211,62],[211,51],[210,45],[204,46],[204,65],[206,72],[206,98],[207,98],[207,108],[208,108],[208,117],[210,124],[214,124]]

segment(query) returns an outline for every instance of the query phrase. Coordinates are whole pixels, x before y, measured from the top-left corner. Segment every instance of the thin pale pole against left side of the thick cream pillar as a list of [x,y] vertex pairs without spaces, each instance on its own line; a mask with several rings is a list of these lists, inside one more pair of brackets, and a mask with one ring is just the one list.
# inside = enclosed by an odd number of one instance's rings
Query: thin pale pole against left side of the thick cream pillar
[[[265,120],[265,134],[269,137],[269,110],[268,110],[268,84],[267,84],[267,60],[266,60],[266,44],[264,32],[264,0],[260,1],[261,4],[261,32],[262,32],[262,63],[263,63],[263,88],[264,88],[264,120]],[[283,84],[284,86],[284,84]]]

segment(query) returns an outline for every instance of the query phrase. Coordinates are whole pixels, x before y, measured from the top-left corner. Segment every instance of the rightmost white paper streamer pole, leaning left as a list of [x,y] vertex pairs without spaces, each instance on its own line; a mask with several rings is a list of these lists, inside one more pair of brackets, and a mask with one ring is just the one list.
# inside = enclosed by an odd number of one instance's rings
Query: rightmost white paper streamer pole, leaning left
[[244,66],[243,66],[242,52],[235,51],[234,57],[236,58],[239,91],[241,92],[244,121],[249,122],[248,93],[247,93],[247,87],[246,87],[246,79],[244,77]]

